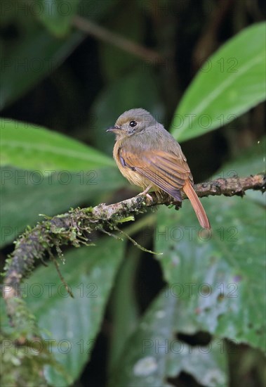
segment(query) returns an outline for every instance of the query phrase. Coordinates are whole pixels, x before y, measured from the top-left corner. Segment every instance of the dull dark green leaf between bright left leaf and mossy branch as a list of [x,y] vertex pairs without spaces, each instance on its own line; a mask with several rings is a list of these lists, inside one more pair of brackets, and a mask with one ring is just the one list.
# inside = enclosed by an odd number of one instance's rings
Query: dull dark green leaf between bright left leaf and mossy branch
[[27,225],[43,220],[39,214],[53,216],[77,205],[96,205],[108,201],[115,189],[126,183],[117,168],[61,171],[50,176],[40,171],[1,168],[0,246],[11,243]]

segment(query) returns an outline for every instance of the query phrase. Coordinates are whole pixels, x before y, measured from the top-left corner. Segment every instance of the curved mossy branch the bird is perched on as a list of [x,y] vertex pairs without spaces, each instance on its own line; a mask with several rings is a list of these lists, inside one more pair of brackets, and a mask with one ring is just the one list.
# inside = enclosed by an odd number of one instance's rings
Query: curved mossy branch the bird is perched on
[[[264,192],[265,185],[265,174],[258,174],[204,182],[196,184],[194,189],[199,197],[244,196],[247,189]],[[89,234],[92,231],[112,231],[119,223],[133,219],[134,215],[145,212],[148,207],[173,203],[172,198],[167,195],[157,196],[152,193],[151,197],[152,200],[148,196],[135,196],[111,205],[100,204],[94,208],[76,208],[62,215],[46,217],[46,220],[33,229],[27,229],[15,242],[15,250],[6,262],[4,282],[8,291],[4,291],[4,298],[7,305],[8,299],[15,297],[15,286],[29,274],[34,261],[44,260],[46,255],[51,255],[53,248],[60,251],[60,246],[67,244],[77,247],[84,243],[88,244]],[[182,194],[182,198],[186,198],[185,194]],[[178,205],[176,208],[178,209]],[[9,315],[13,315],[13,307],[8,309]]]

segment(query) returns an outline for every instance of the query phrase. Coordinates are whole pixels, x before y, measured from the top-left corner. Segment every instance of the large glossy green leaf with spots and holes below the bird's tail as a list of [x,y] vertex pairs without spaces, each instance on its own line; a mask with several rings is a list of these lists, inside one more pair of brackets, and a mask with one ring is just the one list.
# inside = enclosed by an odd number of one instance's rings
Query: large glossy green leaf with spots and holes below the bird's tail
[[[254,160],[257,157],[253,153]],[[249,164],[258,165],[250,155],[246,170]],[[218,175],[228,177],[232,171],[239,175],[232,166]],[[178,212],[160,208],[158,214],[155,249],[164,252],[160,263],[168,282],[167,296],[180,302],[178,331],[208,331],[263,350],[265,294],[261,289],[266,283],[261,204],[248,196],[215,196],[201,202],[211,231],[200,229],[189,201]]]

